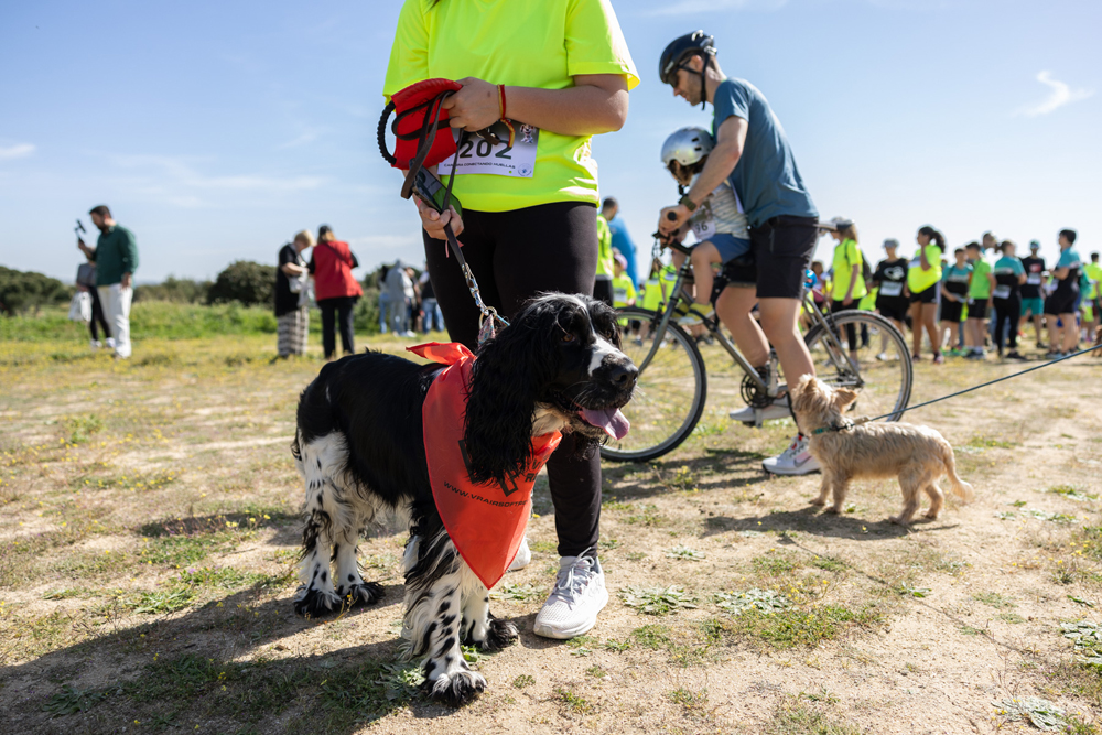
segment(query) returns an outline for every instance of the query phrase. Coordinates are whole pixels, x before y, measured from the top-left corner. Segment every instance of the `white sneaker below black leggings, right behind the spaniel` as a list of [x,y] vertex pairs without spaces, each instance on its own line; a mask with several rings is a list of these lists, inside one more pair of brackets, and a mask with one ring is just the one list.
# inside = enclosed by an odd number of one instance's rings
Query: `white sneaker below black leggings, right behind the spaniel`
[[581,636],[596,625],[597,613],[607,604],[605,575],[597,560],[563,556],[554,590],[536,616],[536,635],[560,640]]

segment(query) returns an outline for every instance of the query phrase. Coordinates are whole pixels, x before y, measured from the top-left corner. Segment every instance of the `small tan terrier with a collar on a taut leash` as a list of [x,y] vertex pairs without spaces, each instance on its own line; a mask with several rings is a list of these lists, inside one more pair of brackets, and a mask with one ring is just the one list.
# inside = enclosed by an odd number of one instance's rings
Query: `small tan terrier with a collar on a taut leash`
[[822,465],[823,484],[814,505],[827,505],[827,494],[833,493],[834,505],[828,512],[841,512],[851,479],[898,477],[903,512],[888,520],[906,526],[923,491],[930,496],[926,517],[933,520],[941,512],[946,496],[938,478],[942,475],[961,500],[970,502],[975,497],[972,486],[957,475],[953,447],[944,436],[909,423],[854,423],[843,414],[855,400],[855,391],[832,389],[813,376],[803,376],[792,393],[792,411],[811,437],[808,450]]

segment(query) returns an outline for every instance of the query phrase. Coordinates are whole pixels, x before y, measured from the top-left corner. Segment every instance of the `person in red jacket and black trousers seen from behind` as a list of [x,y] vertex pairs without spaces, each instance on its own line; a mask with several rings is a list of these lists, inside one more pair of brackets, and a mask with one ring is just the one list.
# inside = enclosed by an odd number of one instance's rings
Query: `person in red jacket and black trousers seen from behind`
[[336,238],[328,225],[322,225],[317,228],[317,246],[314,247],[307,268],[314,275],[314,293],[317,296],[317,307],[322,310],[325,359],[332,359],[337,352],[334,316],[341,320],[341,343],[345,355],[354,354],[356,347],[353,344],[352,314],[364,293],[352,274],[353,268],[359,268],[356,256],[348,249],[347,242]]

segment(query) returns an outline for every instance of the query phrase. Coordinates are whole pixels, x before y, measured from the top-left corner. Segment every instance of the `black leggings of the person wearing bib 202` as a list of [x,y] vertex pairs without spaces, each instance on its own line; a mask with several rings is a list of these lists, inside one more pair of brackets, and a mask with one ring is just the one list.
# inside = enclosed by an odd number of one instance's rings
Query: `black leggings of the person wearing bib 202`
[[[511,212],[463,213],[460,236],[483,300],[501,316],[515,315],[541,291],[593,294],[597,272],[597,210],[582,202],[541,204]],[[478,343],[478,309],[447,244],[422,231],[432,290],[447,334],[471,349]],[[577,452],[563,436],[548,462],[559,555],[596,556],[601,522],[601,455]]]

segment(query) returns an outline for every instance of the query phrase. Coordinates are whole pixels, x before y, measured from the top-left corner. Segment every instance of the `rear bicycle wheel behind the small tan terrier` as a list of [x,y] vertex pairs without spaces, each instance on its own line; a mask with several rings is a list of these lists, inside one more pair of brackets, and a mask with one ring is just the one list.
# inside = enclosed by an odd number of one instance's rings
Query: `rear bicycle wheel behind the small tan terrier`
[[907,341],[899,329],[878,314],[855,310],[835,312],[827,322],[842,346],[840,355],[832,359],[831,353],[838,350],[824,339],[822,325],[813,325],[804,337],[819,378],[861,393],[851,413],[888,414],[888,421],[898,421],[910,402],[915,378]]

